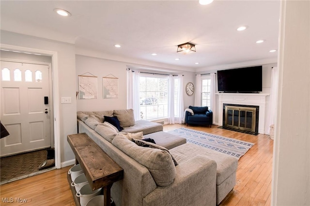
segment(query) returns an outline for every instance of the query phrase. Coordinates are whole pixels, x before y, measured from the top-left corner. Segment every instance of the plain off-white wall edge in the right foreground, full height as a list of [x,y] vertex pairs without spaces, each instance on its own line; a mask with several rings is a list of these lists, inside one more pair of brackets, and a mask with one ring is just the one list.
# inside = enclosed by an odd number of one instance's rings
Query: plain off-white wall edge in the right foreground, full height
[[310,1],[281,1],[271,205],[310,205]]

